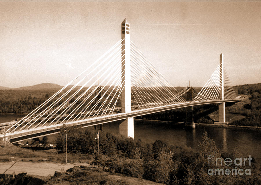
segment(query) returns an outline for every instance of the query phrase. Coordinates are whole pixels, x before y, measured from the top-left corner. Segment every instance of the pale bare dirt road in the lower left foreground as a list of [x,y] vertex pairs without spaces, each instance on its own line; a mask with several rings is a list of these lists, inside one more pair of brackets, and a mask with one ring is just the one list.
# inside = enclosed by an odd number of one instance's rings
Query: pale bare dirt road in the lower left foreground
[[[0,162],[0,174],[3,174],[10,166],[15,163],[13,162]],[[65,172],[67,169],[74,167],[75,165],[85,165],[87,164],[61,164],[54,162],[22,162],[18,161],[14,166],[6,171],[6,174],[15,174],[27,172],[28,175],[39,175],[39,176],[53,176],[55,171]]]

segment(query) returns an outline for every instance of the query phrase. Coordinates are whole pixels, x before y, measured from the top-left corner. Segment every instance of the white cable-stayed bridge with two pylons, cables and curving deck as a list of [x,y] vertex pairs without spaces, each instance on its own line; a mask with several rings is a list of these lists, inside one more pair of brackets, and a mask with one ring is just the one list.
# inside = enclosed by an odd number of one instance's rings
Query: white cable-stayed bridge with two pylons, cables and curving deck
[[0,139],[18,142],[58,133],[64,126],[89,127],[117,120],[122,121],[120,134],[134,138],[135,116],[213,103],[219,106],[219,123],[226,123],[225,103],[242,99],[231,86],[222,53],[204,87],[187,101],[184,94],[191,87],[181,92],[172,87],[131,42],[126,19],[121,28],[122,38],[62,89],[24,118],[1,123],[7,126],[0,130]]

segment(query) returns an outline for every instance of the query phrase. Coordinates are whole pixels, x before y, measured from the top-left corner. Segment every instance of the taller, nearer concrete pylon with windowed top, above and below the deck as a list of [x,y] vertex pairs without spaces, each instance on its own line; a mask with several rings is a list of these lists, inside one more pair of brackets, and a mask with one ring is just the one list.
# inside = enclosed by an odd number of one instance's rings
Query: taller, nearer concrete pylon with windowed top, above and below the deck
[[[127,20],[122,22],[122,112],[131,112],[131,45],[130,25]],[[133,117],[124,119],[119,125],[119,133],[134,138]]]

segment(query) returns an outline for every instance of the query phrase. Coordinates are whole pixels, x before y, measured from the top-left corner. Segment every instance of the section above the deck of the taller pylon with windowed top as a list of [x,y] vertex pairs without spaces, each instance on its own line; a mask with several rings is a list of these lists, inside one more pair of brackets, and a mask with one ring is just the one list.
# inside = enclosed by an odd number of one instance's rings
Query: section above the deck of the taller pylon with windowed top
[[131,49],[130,25],[122,22],[122,112],[131,112]]

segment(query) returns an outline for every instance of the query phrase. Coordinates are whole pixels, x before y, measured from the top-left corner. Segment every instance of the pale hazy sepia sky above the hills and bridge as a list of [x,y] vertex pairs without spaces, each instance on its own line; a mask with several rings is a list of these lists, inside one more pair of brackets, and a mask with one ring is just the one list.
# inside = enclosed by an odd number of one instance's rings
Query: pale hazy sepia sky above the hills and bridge
[[261,82],[261,1],[0,1],[0,86],[66,85],[121,38],[173,86]]

